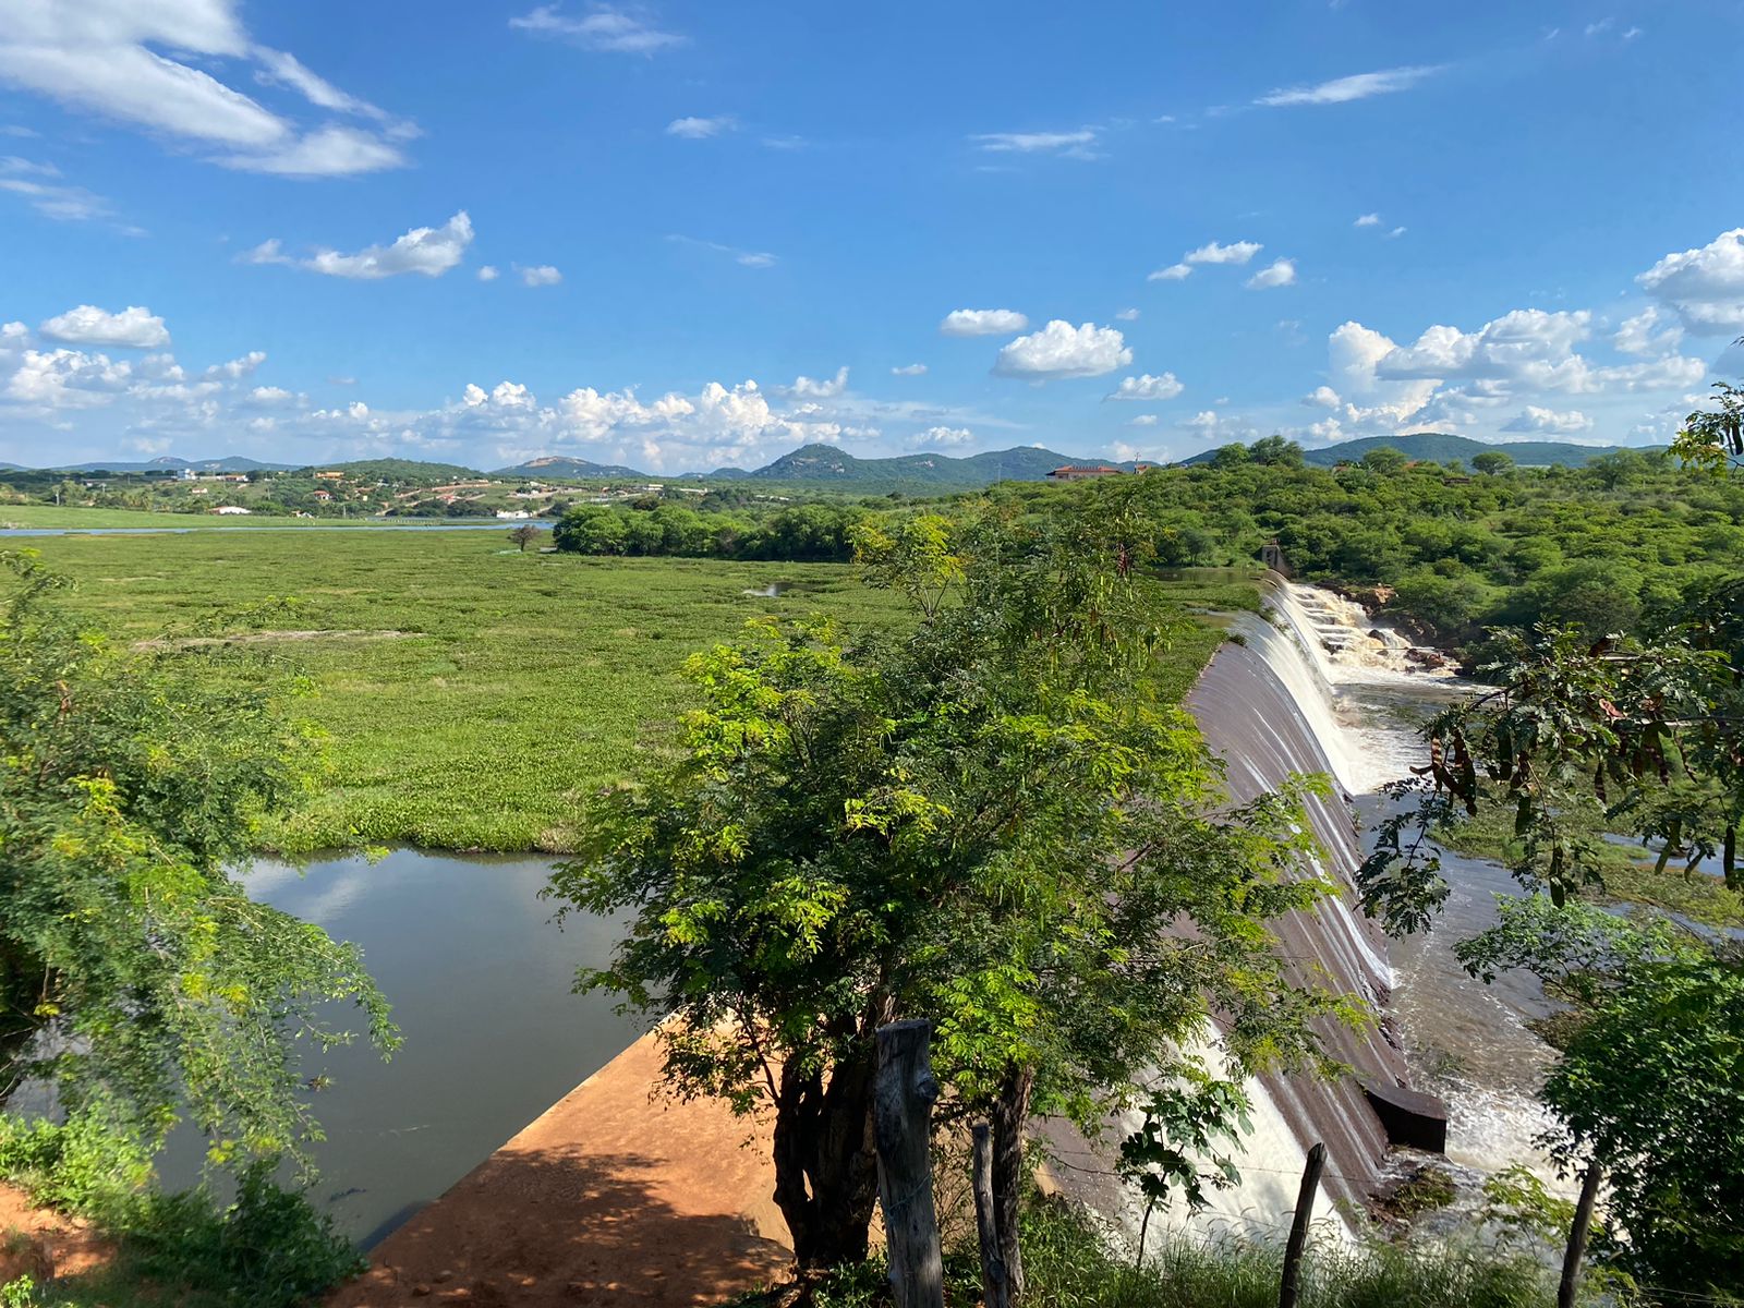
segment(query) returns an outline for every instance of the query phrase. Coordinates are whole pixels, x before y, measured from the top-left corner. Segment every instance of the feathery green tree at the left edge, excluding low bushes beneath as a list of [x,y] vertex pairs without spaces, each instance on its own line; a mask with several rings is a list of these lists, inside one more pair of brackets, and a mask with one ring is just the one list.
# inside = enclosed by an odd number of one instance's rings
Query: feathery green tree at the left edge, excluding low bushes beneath
[[298,1048],[384,1048],[387,1005],[356,949],[253,902],[230,869],[298,794],[295,685],[213,677],[213,645],[127,652],[56,610],[61,582],[0,555],[0,1095],[47,1080],[148,1146],[183,1113],[213,1156],[314,1132]]

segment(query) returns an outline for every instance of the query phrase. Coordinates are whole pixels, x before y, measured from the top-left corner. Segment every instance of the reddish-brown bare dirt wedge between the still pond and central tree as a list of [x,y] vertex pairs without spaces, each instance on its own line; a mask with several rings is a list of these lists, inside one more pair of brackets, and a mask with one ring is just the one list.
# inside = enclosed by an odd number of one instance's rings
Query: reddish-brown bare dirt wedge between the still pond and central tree
[[657,1080],[644,1036],[377,1245],[330,1308],[703,1305],[774,1280],[792,1254],[767,1128],[649,1100]]

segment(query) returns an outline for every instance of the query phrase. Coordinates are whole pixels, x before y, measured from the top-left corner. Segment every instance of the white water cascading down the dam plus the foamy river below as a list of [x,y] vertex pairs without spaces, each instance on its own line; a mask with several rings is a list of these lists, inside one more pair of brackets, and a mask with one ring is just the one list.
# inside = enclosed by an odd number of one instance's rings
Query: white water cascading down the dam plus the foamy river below
[[[1376,624],[1360,605],[1280,577],[1268,582],[1266,616],[1231,617],[1230,635],[1186,703],[1226,762],[1231,795],[1249,799],[1303,773],[1327,774],[1338,788],[1311,799],[1308,818],[1325,851],[1317,870],[1345,896],[1313,916],[1285,919],[1282,950],[1298,978],[1360,994],[1381,1017],[1364,1031],[1322,1027],[1327,1048],[1352,1069],[1339,1081],[1249,1078],[1254,1132],[1236,1156],[1242,1182],[1212,1193],[1212,1207],[1196,1217],[1165,1210],[1153,1224],[1275,1235],[1296,1203],[1308,1146],[1324,1141],[1329,1168],[1315,1219],[1343,1228],[1338,1205],[1360,1205],[1381,1186],[1388,1163],[1386,1134],[1362,1081],[1441,1093],[1453,1162],[1495,1170],[1533,1158],[1531,1137],[1543,1120],[1531,1090],[1547,1050],[1523,1020],[1543,1012],[1542,992],[1470,980],[1446,944],[1493,919],[1491,893],[1507,886],[1505,874],[1446,856],[1454,889],[1439,931],[1395,942],[1392,950],[1353,909],[1362,830],[1381,813],[1380,790],[1420,762],[1414,722],[1468,687],[1439,656]],[[1221,1066],[1214,1043],[1196,1052],[1214,1069]],[[1090,1182],[1087,1156],[1062,1160],[1078,1170],[1073,1188],[1137,1235],[1137,1202],[1106,1179]]]

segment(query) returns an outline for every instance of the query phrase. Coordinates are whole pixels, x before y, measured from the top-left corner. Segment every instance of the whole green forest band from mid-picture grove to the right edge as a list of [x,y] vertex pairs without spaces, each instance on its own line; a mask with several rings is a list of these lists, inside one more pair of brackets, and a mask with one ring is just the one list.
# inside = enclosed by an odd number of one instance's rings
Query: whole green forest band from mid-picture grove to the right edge
[[[1025,516],[1125,516],[1158,567],[1252,563],[1277,541],[1308,581],[1353,589],[1423,635],[1465,645],[1536,621],[1638,631],[1744,563],[1744,478],[1624,450],[1585,467],[1411,462],[1378,446],[1313,467],[1294,443],[1231,445],[1207,464],[1099,481],[1003,483],[928,511],[1005,504]],[[902,518],[900,499],[771,508],[710,495],[577,508],[560,549],[589,555],[839,562],[855,523]]]

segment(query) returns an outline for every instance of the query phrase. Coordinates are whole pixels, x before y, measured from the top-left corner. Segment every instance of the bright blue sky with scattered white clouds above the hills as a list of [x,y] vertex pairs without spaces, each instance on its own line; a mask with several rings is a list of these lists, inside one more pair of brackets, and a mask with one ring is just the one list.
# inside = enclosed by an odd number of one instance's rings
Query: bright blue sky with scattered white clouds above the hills
[[0,460],[1666,439],[1744,3],[0,0]]

